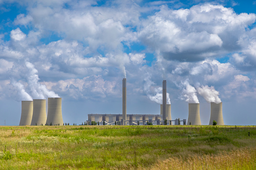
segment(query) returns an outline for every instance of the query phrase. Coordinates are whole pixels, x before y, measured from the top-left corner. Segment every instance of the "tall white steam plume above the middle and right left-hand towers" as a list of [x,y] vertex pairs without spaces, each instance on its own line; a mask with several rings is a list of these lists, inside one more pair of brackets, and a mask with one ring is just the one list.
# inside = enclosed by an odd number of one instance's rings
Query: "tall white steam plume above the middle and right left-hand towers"
[[27,73],[28,86],[31,90],[31,95],[34,99],[45,99],[45,97],[59,97],[53,91],[49,91],[45,85],[40,84],[38,81],[38,71],[30,62],[25,62],[29,72]]

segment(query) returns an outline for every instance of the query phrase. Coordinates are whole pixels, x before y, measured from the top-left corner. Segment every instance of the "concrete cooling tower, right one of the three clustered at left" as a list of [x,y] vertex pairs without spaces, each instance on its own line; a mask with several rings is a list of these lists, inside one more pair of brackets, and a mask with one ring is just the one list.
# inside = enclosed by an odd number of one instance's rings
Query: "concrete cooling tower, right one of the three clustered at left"
[[48,125],[63,125],[61,98],[48,98],[48,114],[46,123]]

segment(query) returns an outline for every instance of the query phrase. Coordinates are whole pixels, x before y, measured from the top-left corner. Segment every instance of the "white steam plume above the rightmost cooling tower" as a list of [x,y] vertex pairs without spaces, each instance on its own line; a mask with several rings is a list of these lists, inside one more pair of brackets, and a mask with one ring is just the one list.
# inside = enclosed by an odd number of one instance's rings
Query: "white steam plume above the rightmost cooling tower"
[[214,89],[213,86],[209,87],[208,85],[201,86],[197,88],[198,93],[204,97],[204,99],[208,102],[220,103],[221,100],[219,98],[219,92]]

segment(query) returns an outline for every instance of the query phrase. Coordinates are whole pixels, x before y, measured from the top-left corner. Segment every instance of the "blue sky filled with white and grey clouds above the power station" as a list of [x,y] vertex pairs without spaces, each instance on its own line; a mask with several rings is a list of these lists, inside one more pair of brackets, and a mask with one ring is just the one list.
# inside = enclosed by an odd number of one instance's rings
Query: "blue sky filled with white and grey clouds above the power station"
[[0,1],[0,125],[21,101],[62,97],[63,121],[90,113],[159,114],[167,81],[172,118],[223,102],[225,124],[255,124],[256,1]]

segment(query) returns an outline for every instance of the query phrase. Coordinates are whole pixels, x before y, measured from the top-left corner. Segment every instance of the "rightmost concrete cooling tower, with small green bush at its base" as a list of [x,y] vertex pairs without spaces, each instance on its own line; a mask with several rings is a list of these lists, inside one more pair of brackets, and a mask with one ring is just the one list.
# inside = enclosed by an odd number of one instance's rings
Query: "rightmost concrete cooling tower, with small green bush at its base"
[[213,120],[217,122],[217,125],[224,125],[222,116],[222,102],[219,104],[211,103],[211,117],[209,125],[213,124]]

